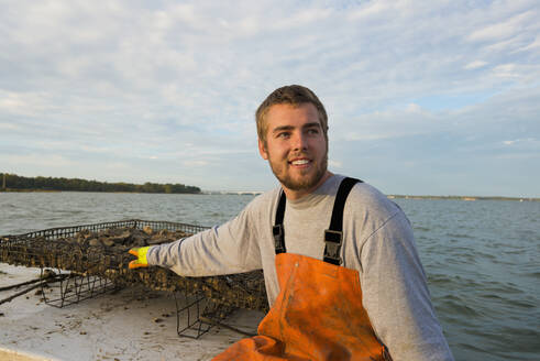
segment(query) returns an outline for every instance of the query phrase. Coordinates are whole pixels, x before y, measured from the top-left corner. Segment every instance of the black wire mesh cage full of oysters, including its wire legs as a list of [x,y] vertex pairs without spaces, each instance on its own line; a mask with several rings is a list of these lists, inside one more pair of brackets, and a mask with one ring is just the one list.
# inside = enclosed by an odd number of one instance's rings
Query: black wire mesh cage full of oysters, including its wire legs
[[[134,258],[128,250],[169,242],[206,229],[202,226],[140,219],[51,228],[0,237],[0,262],[68,272],[69,276],[60,282],[56,297],[46,296],[43,291],[44,300],[56,307],[129,285],[174,293],[177,317],[179,313],[190,313],[187,325],[177,324],[178,335],[188,335],[188,331],[197,329],[197,338],[235,308],[267,310],[262,271],[183,277],[157,266],[130,270],[128,264]],[[184,307],[178,303],[181,297],[196,302]],[[195,314],[194,309],[197,309]],[[207,322],[202,320],[206,317]]]

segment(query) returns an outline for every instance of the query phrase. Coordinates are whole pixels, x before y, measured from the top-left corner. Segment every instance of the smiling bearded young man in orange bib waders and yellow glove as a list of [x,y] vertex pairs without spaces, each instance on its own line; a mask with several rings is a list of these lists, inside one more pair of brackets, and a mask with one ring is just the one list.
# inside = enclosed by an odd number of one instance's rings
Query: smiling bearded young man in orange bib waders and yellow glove
[[409,221],[372,186],[327,169],[317,96],[279,88],[256,122],[258,151],[282,186],[220,227],[130,251],[130,266],[184,276],[263,269],[271,310],[258,336],[216,360],[453,360]]

